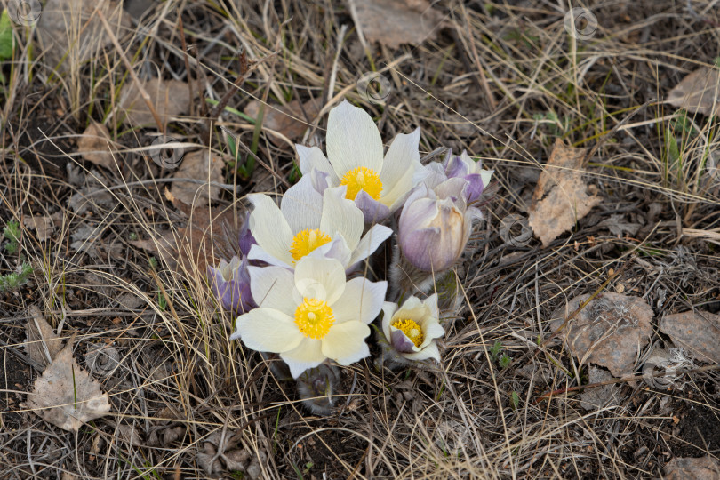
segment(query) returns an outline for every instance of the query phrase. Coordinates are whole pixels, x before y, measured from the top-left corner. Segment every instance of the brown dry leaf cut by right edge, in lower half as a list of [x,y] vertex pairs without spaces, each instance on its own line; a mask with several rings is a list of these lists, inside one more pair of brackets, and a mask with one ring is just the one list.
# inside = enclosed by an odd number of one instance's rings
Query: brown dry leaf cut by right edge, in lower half
[[660,319],[660,331],[677,347],[692,350],[701,362],[720,363],[720,315],[688,311]]

